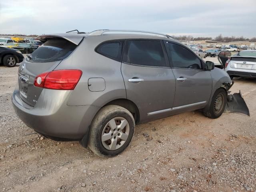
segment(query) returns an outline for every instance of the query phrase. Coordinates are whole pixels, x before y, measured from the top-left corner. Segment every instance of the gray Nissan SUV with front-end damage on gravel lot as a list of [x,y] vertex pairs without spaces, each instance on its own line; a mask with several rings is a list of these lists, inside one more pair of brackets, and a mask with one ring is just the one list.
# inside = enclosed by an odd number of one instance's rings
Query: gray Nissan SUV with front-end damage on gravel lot
[[39,36],[18,69],[12,102],[46,138],[120,154],[135,124],[201,109],[218,118],[232,86],[224,70],[165,34],[97,30]]

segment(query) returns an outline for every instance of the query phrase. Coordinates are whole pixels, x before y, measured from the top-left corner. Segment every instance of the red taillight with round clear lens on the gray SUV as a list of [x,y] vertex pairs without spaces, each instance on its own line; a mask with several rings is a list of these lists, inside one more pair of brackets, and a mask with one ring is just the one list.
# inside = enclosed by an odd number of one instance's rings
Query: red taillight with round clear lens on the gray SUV
[[74,90],[81,76],[81,70],[71,69],[46,72],[36,76],[34,86],[46,89]]

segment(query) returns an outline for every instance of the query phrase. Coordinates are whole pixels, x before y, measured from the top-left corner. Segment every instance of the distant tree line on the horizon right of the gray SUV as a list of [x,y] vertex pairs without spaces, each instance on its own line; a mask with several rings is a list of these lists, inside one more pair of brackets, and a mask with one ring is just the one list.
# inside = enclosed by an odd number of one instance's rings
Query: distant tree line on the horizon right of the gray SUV
[[256,42],[256,37],[253,38],[245,38],[244,36],[236,37],[224,37],[222,34],[216,36],[215,38],[212,37],[196,37],[194,38],[191,35],[182,35],[182,36],[172,36],[176,40],[184,40],[184,41],[200,41],[200,40],[212,40],[212,41],[219,41],[219,42],[232,42],[232,41],[249,41],[249,42]]

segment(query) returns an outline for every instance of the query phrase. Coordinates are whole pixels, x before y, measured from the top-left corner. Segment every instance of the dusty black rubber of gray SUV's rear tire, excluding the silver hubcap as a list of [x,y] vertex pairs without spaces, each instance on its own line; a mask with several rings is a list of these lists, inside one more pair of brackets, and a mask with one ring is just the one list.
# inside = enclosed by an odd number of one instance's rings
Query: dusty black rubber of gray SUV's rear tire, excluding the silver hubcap
[[[103,130],[107,130],[107,128],[110,127],[107,125],[110,122],[110,120],[112,120],[113,118],[124,118],[125,120],[127,120],[129,133],[128,133],[127,139],[124,141],[124,143],[120,148],[117,148],[115,150],[111,150],[111,149],[109,150],[106,147],[104,147],[104,144],[105,146],[107,144],[102,142],[102,134],[104,135]],[[92,152],[94,152],[96,155],[101,157],[116,156],[121,152],[123,152],[129,146],[134,135],[134,129],[135,129],[134,118],[126,108],[123,108],[117,105],[104,106],[102,109],[100,109],[100,111],[96,114],[96,116],[92,121],[90,134],[89,134],[88,147],[90,148],[90,150],[92,150]],[[110,129],[110,131],[112,131],[112,129]],[[115,134],[116,131],[114,130],[113,133]],[[116,136],[114,138],[117,139],[118,137]],[[109,144],[110,146],[112,144],[112,140],[107,140],[107,141],[110,142]],[[119,141],[119,145],[121,145],[120,141]],[[116,146],[118,146],[118,143],[116,144]]]

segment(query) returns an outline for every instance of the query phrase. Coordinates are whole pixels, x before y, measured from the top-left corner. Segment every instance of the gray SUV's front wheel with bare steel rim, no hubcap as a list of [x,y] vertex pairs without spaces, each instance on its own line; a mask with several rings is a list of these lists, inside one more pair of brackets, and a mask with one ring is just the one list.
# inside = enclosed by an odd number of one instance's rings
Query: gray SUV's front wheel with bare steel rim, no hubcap
[[[222,100],[222,104],[218,106],[218,102]],[[212,97],[212,101],[210,103],[210,107],[207,111],[204,111],[204,116],[212,119],[216,119],[220,117],[225,109],[227,103],[227,92],[224,90],[224,88],[219,88],[216,90]]]

